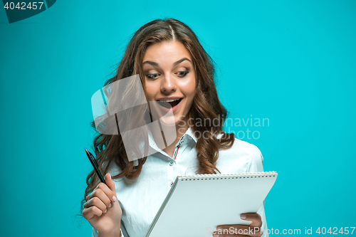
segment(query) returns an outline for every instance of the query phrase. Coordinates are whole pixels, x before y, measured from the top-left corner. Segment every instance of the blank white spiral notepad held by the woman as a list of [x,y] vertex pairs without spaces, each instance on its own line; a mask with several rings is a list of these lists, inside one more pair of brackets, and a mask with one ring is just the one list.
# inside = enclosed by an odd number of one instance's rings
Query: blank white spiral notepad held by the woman
[[217,225],[248,225],[251,221],[241,220],[240,214],[258,211],[277,175],[256,172],[177,176],[145,237],[211,237]]

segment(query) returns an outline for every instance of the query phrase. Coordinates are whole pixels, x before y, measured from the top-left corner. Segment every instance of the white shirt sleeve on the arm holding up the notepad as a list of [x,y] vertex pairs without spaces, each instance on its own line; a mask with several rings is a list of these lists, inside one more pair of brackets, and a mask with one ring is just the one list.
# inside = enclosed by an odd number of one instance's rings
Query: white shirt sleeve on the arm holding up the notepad
[[[258,149],[253,144],[251,144],[251,149],[252,149],[251,160],[247,172],[263,172],[263,156],[261,154],[260,149]],[[268,237],[266,214],[265,214],[265,202],[266,199],[263,200],[261,207],[257,211],[257,214],[261,216],[261,220],[262,220],[261,228],[263,230],[263,234],[261,237]]]

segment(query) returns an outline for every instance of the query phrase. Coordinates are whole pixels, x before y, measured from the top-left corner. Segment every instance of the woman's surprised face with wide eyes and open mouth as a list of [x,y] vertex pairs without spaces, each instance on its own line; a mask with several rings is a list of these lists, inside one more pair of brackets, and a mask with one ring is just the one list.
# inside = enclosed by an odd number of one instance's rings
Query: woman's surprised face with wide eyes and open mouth
[[[192,57],[178,41],[163,41],[147,48],[143,57],[146,97],[159,115],[172,107],[175,125],[187,122],[196,90]],[[172,101],[159,102],[159,101]],[[168,107],[168,108],[167,108]],[[172,115],[172,114],[171,114]],[[156,118],[157,119],[157,118]]]

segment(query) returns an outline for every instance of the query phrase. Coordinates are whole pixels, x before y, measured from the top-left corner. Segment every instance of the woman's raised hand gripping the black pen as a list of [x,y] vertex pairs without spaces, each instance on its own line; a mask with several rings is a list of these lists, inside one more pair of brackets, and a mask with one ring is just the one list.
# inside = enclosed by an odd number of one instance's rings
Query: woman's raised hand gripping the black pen
[[119,236],[122,210],[117,201],[115,184],[110,173],[86,197],[83,216],[103,236]]

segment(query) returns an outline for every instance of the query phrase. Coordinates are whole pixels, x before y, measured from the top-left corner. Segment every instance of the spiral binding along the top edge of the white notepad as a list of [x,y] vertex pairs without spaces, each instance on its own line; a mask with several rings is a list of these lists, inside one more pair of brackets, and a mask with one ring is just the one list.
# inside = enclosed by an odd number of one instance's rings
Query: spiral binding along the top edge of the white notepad
[[211,179],[253,179],[253,178],[267,178],[275,177],[277,172],[253,172],[253,173],[239,173],[239,174],[192,174],[183,175],[180,177],[182,181],[190,180],[211,180]]

